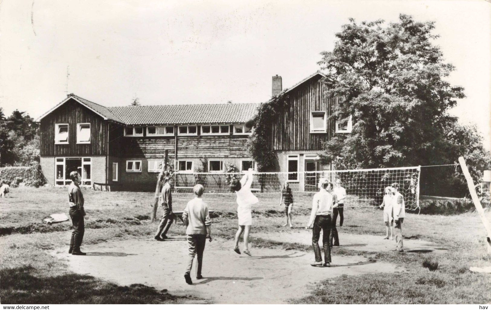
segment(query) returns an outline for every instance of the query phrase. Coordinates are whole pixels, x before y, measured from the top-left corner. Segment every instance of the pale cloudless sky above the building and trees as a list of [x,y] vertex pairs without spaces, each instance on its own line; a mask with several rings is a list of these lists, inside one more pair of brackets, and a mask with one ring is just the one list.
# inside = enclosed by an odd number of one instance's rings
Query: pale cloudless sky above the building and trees
[[400,13],[436,22],[466,94],[451,113],[490,149],[486,0],[0,0],[0,107],[37,118],[67,91],[105,106],[264,102],[273,75],[287,88],[317,71],[348,18]]

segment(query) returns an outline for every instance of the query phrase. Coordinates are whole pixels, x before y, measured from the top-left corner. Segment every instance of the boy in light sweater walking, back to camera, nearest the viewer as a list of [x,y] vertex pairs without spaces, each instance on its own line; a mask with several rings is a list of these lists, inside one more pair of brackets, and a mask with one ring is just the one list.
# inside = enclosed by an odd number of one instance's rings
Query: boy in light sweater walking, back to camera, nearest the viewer
[[203,201],[201,195],[203,195],[203,185],[196,184],[192,189],[194,199],[190,200],[186,205],[186,209],[183,211],[183,221],[187,226],[186,238],[189,245],[189,260],[184,279],[186,283],[192,284],[191,281],[191,268],[194,256],[198,254],[198,272],[196,279],[202,279],[201,267],[203,265],[203,251],[205,250],[206,234],[208,233],[208,239],[212,241],[211,236],[211,224],[210,213],[208,212],[208,206]]

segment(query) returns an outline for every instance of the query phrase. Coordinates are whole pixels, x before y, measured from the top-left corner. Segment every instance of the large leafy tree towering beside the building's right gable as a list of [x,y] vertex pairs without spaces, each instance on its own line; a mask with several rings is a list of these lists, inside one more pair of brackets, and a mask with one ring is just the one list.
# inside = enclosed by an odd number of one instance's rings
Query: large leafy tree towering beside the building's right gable
[[[435,23],[401,14],[399,22],[383,24],[350,19],[332,52],[321,53],[325,95],[341,98],[330,117],[353,119],[352,132],[334,135],[323,158],[350,169],[455,162],[455,152],[445,153],[457,126],[448,110],[464,88],[445,81],[454,66],[433,43]],[[458,134],[464,133],[468,128]]]

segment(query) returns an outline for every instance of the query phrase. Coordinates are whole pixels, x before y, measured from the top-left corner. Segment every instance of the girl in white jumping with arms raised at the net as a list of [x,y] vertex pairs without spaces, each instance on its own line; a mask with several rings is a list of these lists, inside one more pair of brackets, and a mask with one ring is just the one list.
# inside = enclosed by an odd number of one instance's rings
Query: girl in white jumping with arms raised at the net
[[233,180],[230,188],[237,194],[237,217],[239,220],[239,229],[235,234],[235,248],[237,254],[241,254],[239,250],[239,238],[244,232],[244,252],[250,256],[249,252],[249,232],[252,225],[251,206],[259,200],[250,191],[252,184],[252,169],[249,168],[247,173],[239,180]]

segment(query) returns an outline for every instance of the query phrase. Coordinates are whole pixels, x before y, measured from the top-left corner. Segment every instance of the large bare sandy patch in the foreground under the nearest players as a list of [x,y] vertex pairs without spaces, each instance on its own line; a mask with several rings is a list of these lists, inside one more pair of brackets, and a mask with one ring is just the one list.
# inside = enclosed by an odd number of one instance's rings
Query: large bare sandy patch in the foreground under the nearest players
[[[300,238],[304,233],[298,234]],[[269,236],[261,234],[264,238]],[[276,236],[272,234],[271,237]],[[282,240],[285,240],[284,235]],[[308,236],[306,240],[309,240]],[[193,267],[193,285],[184,281],[188,254],[184,237],[165,242],[131,239],[86,245],[82,247],[86,256],[67,254],[66,249],[54,251],[54,254],[66,259],[71,270],[79,274],[121,285],[143,283],[157,289],[165,288],[171,294],[192,295],[206,302],[226,304],[286,303],[290,298],[305,296],[311,284],[328,278],[404,271],[393,264],[367,261],[357,255],[333,256],[330,268],[319,268],[310,266],[311,253],[252,248],[249,257],[236,254],[232,247],[233,242],[226,240],[207,243],[204,278],[196,280]]]

